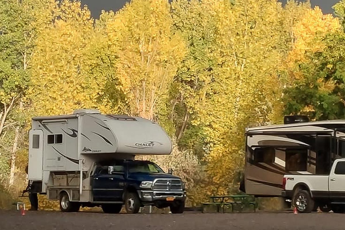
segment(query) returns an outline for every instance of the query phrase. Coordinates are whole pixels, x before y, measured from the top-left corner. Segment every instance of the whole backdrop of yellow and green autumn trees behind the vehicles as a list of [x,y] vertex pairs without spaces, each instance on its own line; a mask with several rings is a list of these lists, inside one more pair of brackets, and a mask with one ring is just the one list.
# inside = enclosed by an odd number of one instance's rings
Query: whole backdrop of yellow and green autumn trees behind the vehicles
[[132,0],[95,20],[80,1],[0,1],[0,188],[26,184],[32,116],[91,108],[158,121],[174,149],[149,159],[187,181],[189,205],[238,192],[246,126],[344,118],[344,2],[334,9]]

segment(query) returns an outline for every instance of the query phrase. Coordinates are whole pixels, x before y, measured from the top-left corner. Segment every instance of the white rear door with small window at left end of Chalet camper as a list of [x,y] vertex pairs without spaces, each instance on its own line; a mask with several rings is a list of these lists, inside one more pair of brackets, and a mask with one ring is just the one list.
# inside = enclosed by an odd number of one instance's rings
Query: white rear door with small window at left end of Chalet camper
[[29,180],[42,180],[43,131],[29,132]]

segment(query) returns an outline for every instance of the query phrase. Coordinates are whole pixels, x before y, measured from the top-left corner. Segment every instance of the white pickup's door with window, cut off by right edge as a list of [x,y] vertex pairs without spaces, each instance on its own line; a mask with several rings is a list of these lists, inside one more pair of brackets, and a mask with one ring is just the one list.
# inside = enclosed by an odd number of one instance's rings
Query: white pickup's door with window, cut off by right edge
[[345,160],[336,160],[329,175],[329,196],[345,198]]

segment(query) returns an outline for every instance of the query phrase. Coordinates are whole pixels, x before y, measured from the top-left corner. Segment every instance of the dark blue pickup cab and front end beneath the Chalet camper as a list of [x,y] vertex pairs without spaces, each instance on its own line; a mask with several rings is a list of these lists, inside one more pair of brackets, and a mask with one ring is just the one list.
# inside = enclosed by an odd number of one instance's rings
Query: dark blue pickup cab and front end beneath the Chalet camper
[[92,172],[93,202],[102,203],[106,213],[138,213],[140,207],[170,207],[183,213],[186,190],[181,178],[165,173],[157,164],[141,160],[99,162]]

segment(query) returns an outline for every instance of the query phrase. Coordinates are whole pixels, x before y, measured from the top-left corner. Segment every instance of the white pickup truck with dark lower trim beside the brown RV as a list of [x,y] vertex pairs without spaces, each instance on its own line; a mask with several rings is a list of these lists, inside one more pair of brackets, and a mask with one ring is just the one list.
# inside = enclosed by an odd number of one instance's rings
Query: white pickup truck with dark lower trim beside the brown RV
[[345,212],[345,159],[336,159],[329,175],[284,175],[282,196],[298,212]]

